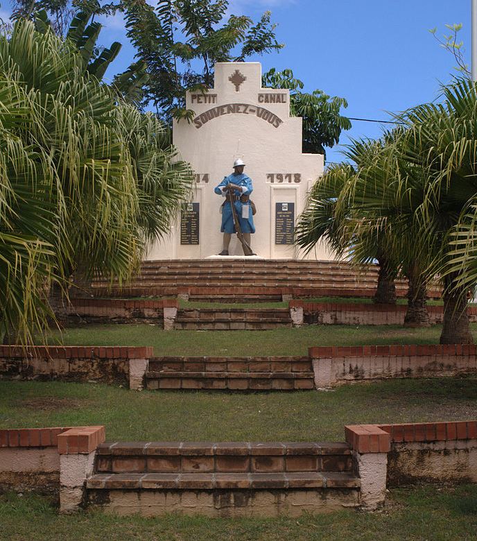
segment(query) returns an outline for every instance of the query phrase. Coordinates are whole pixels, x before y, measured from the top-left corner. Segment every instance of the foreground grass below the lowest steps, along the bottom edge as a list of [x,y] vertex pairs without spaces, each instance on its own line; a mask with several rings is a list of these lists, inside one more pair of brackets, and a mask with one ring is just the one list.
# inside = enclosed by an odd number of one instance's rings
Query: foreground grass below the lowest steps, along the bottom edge
[[145,519],[99,511],[58,515],[37,496],[0,496],[2,540],[62,541],[462,541],[477,539],[477,486],[391,490],[381,513],[342,510],[299,518]]

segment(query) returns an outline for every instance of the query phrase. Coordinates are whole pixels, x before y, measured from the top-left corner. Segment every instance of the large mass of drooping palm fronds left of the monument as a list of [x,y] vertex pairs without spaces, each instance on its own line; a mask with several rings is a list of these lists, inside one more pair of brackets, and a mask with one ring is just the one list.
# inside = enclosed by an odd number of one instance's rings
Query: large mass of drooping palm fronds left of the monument
[[67,289],[78,266],[87,276],[128,280],[146,241],[168,230],[193,175],[157,120],[85,73],[70,40],[17,22],[9,39],[0,37],[3,80],[11,95],[0,102],[0,207],[8,211],[0,234],[15,237],[24,255],[20,261],[12,243],[0,244],[10,303],[0,319],[3,332],[21,322],[27,339],[49,312],[52,280]]

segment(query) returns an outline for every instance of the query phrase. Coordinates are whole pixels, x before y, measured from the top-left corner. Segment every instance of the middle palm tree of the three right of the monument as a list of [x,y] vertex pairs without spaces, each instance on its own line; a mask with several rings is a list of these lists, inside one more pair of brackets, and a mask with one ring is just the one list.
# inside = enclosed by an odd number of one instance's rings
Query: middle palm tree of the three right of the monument
[[[374,148],[371,159],[363,162],[358,174],[347,184],[347,194],[342,204],[352,212],[367,216],[361,221],[354,246],[358,257],[370,252],[374,239],[381,239],[381,250],[392,255],[394,272],[408,280],[408,308],[404,324],[410,327],[430,325],[426,308],[426,289],[433,277],[431,259],[426,244],[417,243],[422,224],[415,220],[413,212],[406,214],[409,205],[419,204],[419,186],[422,169],[397,159],[397,147],[405,132],[401,128],[385,132],[378,141],[366,142],[364,147]],[[363,155],[363,143],[355,143],[347,155],[356,160]],[[401,179],[408,179],[403,189]],[[417,188],[416,188],[417,187]],[[417,200],[416,200],[417,198]],[[389,256],[388,256],[389,257]]]

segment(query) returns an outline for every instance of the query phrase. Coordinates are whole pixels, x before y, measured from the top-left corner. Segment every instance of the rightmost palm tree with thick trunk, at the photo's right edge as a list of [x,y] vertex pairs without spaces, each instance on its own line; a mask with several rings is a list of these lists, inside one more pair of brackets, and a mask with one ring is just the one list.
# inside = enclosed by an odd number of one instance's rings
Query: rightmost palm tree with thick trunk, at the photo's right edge
[[[442,89],[444,101],[406,112],[408,125],[400,159],[422,171],[418,205],[410,205],[421,223],[419,242],[428,246],[435,268],[443,273],[444,325],[441,343],[473,343],[467,293],[475,282],[462,280],[454,259],[456,231],[470,231],[477,196],[477,93],[471,80],[458,79]],[[406,182],[412,175],[406,176]],[[416,191],[416,190],[414,190]],[[461,236],[460,249],[467,250]],[[462,244],[463,241],[463,244]]]

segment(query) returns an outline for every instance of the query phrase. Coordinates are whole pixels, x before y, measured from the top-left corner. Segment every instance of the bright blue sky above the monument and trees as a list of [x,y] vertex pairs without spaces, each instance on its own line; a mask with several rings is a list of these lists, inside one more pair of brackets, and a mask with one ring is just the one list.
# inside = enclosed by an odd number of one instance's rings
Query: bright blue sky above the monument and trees
[[[2,3],[0,17],[9,9]],[[261,61],[263,71],[289,67],[306,90],[318,88],[345,97],[349,117],[386,120],[388,112],[438,97],[440,84],[456,74],[455,62],[429,28],[437,27],[437,34],[443,35],[445,24],[462,22],[460,40],[470,63],[471,0],[232,0],[229,8],[254,19],[264,10],[272,12],[277,38],[286,46],[279,53],[250,60]],[[102,22],[103,44],[123,43],[108,71],[112,76],[130,64],[134,51],[121,16]],[[340,143],[379,133],[379,124],[354,121]],[[342,159],[339,147],[327,153],[327,161]]]

